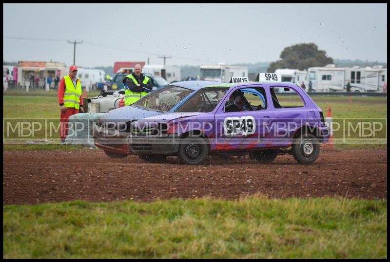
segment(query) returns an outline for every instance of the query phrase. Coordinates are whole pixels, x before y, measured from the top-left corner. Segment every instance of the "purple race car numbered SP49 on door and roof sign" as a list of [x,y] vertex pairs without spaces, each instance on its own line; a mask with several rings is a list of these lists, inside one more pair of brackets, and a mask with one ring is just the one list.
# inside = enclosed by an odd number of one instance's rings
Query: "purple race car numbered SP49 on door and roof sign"
[[311,164],[330,136],[321,109],[296,84],[272,81],[276,74],[258,78],[203,87],[176,112],[133,122],[129,148],[145,160],[177,155],[189,165],[209,154],[249,154],[267,163],[285,153]]

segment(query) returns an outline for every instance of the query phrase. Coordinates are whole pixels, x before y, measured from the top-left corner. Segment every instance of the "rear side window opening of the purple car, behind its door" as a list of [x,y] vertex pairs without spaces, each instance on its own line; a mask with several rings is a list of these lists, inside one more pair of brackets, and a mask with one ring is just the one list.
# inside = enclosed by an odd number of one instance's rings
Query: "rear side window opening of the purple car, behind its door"
[[[270,89],[275,108],[304,107],[302,97],[292,88],[273,87]],[[289,91],[289,92],[287,92]]]

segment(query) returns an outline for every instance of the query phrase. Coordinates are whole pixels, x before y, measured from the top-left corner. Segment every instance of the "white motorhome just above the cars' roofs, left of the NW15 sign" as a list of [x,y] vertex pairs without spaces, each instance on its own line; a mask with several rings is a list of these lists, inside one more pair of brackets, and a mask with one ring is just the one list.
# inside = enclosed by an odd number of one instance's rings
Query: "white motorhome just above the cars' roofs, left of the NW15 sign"
[[248,67],[230,66],[225,63],[200,66],[200,79],[202,80],[228,83],[233,76],[248,77]]

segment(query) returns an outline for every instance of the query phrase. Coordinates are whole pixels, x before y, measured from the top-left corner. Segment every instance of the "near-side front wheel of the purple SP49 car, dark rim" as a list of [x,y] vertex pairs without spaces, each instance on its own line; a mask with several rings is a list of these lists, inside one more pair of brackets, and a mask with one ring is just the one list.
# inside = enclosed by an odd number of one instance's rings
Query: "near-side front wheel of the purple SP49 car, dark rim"
[[187,165],[202,164],[209,153],[209,147],[204,138],[187,137],[184,138],[177,151],[180,163]]

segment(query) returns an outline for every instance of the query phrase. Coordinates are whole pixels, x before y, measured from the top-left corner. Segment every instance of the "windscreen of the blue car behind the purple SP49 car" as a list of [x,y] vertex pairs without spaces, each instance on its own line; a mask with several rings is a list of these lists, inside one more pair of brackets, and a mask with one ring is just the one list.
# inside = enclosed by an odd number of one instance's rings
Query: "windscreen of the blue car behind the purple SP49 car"
[[168,112],[194,90],[167,85],[139,99],[133,105],[153,111]]

